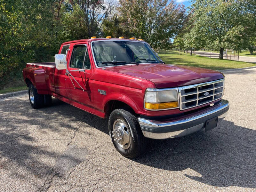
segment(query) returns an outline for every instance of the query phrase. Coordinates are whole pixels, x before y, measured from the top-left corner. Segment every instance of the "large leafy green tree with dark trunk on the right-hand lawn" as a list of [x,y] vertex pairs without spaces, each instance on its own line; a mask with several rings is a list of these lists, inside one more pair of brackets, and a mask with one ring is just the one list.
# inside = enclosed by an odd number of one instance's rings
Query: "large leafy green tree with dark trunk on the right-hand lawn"
[[[246,46],[252,36],[252,22],[255,21],[252,6],[244,0],[193,0],[190,7],[193,11],[195,35],[202,42],[220,51],[228,46],[239,44],[237,49]],[[255,12],[255,10],[254,10]]]

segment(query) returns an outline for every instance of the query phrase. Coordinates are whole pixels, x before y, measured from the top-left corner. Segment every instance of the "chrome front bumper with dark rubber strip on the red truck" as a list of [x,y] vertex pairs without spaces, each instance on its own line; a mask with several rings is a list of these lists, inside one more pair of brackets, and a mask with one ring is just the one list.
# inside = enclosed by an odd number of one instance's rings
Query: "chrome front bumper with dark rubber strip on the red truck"
[[179,119],[149,120],[138,118],[142,133],[145,137],[152,139],[167,139],[182,137],[197,132],[205,127],[205,122],[218,116],[218,121],[224,119],[228,113],[229,103],[221,100],[212,107],[200,112],[191,113]]

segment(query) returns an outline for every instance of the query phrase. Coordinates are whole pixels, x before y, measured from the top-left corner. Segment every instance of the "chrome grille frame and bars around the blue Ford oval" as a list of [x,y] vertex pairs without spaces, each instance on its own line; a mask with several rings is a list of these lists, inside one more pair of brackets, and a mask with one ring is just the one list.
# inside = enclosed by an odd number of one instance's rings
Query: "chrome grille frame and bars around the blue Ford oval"
[[[222,83],[222,86],[219,86],[219,87],[216,87],[216,88],[215,88],[215,85],[214,85],[214,84],[215,84],[215,83],[220,83],[220,82],[223,82],[223,83]],[[204,91],[199,91],[199,90],[198,90],[198,87],[202,87],[202,86],[206,86],[206,85],[213,85],[213,89],[211,88],[211,89],[209,89],[209,90],[204,90]],[[194,85],[188,85],[188,86],[178,87],[178,90],[179,90],[179,98],[180,98],[180,110],[186,110],[186,109],[194,108],[194,107],[197,107],[197,106],[200,106],[200,105],[204,105],[204,104],[206,104],[206,103],[210,103],[210,102],[212,102],[212,101],[215,101],[215,100],[218,100],[218,99],[222,98],[222,96],[223,96],[223,93],[222,93],[223,90],[222,90],[222,92],[219,92],[219,93],[216,93],[216,94],[215,94],[215,89],[221,88],[221,87],[223,87],[223,86],[224,86],[224,79],[215,80],[215,81],[209,81],[209,82],[200,83],[200,84],[194,84]],[[181,95],[181,91],[182,91],[182,90],[192,89],[192,88],[196,88],[196,92],[195,92],[195,93],[189,93],[189,94]],[[199,98],[199,93],[208,92],[208,91],[212,91],[212,90],[213,90],[213,94],[212,94],[212,95]],[[217,98],[217,99],[214,99],[214,96],[215,96],[215,95],[218,95],[218,94],[220,94],[220,93],[222,93],[221,96],[220,96],[219,98]],[[182,102],[182,97],[188,96],[188,95],[195,95],[195,94],[197,94],[197,98],[195,99],[195,100],[196,100],[196,105],[193,105],[193,106],[187,107],[187,108],[182,108],[182,104],[183,104],[183,103],[188,103],[186,100],[185,100],[184,102]],[[201,103],[201,104],[198,105],[198,100],[204,99],[204,98],[207,98],[207,97],[212,97],[212,100],[211,100],[211,101],[207,101],[207,102],[203,102],[203,103]],[[195,100],[194,100],[194,101],[195,101]],[[189,102],[190,102],[190,101],[189,101]]]

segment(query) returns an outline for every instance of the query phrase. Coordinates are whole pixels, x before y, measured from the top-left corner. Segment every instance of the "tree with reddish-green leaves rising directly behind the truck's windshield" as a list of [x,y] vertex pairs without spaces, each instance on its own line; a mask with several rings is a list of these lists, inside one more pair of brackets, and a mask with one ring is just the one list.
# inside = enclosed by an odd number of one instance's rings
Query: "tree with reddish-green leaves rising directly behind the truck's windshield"
[[122,26],[152,47],[171,44],[186,20],[185,8],[174,0],[120,0]]

